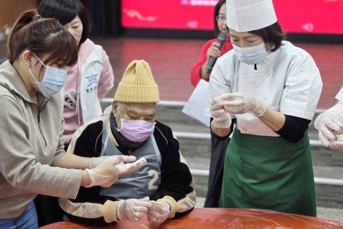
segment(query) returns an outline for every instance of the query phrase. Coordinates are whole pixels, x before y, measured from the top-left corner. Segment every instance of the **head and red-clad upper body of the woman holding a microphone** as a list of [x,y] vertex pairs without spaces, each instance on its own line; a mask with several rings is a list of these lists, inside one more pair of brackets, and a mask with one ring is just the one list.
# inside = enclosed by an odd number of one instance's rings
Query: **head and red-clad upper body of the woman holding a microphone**
[[206,73],[206,66],[209,63],[210,57],[220,57],[233,48],[230,42],[229,30],[226,26],[225,0],[218,1],[214,7],[214,34],[217,37],[221,32],[227,34],[227,39],[222,50],[218,49],[219,44],[217,43],[217,38],[209,40],[202,47],[199,60],[191,69],[191,83],[194,87],[197,86],[200,79],[209,81],[210,73]]

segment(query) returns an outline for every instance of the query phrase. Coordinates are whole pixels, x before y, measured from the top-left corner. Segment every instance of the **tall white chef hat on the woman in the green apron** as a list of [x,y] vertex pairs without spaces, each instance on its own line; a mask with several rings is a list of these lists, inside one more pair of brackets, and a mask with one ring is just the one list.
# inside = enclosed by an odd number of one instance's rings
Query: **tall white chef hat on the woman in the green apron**
[[272,0],[226,0],[227,27],[249,32],[274,24],[276,14]]

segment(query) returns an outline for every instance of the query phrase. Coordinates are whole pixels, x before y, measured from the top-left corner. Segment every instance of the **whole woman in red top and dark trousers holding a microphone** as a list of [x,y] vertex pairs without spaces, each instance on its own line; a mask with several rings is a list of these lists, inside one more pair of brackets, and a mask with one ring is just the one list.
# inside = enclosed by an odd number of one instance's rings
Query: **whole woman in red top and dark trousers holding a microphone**
[[[191,69],[191,82],[194,87],[197,86],[200,79],[209,81],[210,73],[206,73],[206,66],[210,57],[220,57],[233,47],[230,43],[229,31],[226,26],[226,0],[220,0],[214,7],[214,33],[216,36],[224,32],[227,34],[226,42],[222,50],[218,49],[217,38],[206,42],[201,49],[198,62]],[[229,138],[221,141],[213,136],[211,131],[211,164],[208,191],[204,207],[218,207],[220,193],[222,191],[224,159]]]

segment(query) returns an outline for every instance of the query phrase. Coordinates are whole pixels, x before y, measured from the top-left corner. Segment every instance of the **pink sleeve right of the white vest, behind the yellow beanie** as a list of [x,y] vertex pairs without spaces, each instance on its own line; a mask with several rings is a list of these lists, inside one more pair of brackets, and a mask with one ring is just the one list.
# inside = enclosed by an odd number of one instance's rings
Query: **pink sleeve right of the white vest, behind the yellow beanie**
[[102,101],[106,94],[113,88],[114,84],[114,75],[113,75],[113,70],[112,66],[109,62],[109,58],[103,48],[103,70],[101,72],[99,84],[98,84],[98,98],[99,101]]

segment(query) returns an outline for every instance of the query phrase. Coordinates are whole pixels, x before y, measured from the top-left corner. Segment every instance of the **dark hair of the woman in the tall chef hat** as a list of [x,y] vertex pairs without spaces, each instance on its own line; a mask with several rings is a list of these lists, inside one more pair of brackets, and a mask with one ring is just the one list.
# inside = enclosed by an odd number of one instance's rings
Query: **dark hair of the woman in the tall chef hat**
[[281,42],[287,38],[287,33],[282,31],[279,22],[275,22],[274,24],[260,28],[259,30],[250,31],[249,33],[260,36],[264,43],[271,44],[273,47],[270,49],[271,52],[279,49],[281,47]]

